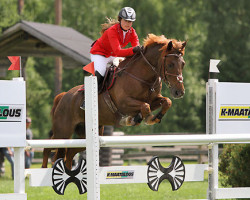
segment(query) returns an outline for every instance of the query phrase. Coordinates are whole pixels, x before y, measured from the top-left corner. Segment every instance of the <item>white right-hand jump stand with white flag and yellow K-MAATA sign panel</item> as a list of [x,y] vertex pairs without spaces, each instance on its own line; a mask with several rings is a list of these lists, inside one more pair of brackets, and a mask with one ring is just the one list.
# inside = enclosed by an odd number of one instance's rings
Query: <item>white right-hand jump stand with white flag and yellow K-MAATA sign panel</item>
[[[207,83],[207,126],[209,136],[232,137],[249,135],[250,83],[219,82],[216,65],[219,60],[210,60],[209,80]],[[244,111],[244,112],[243,112]],[[227,135],[226,135],[227,134]],[[247,136],[248,137],[248,136]],[[240,143],[249,143],[247,139]],[[229,142],[229,141],[228,141]],[[250,187],[219,188],[218,143],[211,143],[209,151],[209,200],[228,198],[250,198]]]

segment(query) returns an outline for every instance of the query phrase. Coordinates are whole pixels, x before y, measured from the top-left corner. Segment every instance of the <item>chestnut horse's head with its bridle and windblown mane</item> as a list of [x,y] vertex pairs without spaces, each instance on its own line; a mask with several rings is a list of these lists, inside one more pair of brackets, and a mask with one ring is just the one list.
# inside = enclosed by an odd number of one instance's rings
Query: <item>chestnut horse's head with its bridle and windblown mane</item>
[[[151,40],[151,42],[150,42]],[[174,98],[181,98],[185,93],[182,70],[185,65],[183,55],[186,42],[175,39],[167,39],[164,36],[155,36],[149,34],[144,45],[157,43],[161,55],[158,61],[158,72],[162,80],[170,88],[171,95]]]

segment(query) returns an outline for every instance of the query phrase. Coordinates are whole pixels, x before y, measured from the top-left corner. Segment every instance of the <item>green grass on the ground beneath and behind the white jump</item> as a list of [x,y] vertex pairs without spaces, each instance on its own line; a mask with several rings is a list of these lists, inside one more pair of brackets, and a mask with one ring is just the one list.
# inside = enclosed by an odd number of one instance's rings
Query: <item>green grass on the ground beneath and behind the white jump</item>
[[[39,168],[41,165],[32,165]],[[167,165],[166,165],[167,166]],[[0,177],[0,193],[13,193],[14,183],[11,179],[10,165],[5,162],[5,175]],[[207,177],[207,175],[205,175]],[[104,200],[175,200],[175,199],[206,199],[207,179],[204,182],[184,182],[175,192],[167,181],[163,181],[158,192],[151,191],[147,184],[117,184],[101,185],[101,199]],[[30,187],[26,179],[26,193],[28,200],[86,200],[87,195],[79,195],[74,184],[69,184],[65,195],[54,192],[52,187]]]

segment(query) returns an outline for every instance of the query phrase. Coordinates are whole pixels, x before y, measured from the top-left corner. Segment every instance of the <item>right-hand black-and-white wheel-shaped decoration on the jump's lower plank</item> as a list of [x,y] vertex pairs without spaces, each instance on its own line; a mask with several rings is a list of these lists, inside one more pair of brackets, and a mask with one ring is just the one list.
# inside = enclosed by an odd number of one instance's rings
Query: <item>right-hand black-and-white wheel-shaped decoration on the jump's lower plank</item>
[[159,157],[155,156],[148,162],[148,186],[153,191],[158,191],[161,182],[167,179],[172,190],[178,190],[185,179],[185,166],[182,160],[174,156],[168,168],[162,167]]

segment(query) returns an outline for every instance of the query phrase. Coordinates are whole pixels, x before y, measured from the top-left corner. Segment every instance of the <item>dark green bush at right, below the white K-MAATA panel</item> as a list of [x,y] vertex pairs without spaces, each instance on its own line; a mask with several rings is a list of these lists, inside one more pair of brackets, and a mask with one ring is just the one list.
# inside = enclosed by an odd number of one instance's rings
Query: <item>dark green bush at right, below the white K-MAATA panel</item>
[[220,155],[219,170],[223,174],[223,186],[250,186],[250,145],[228,144]]

